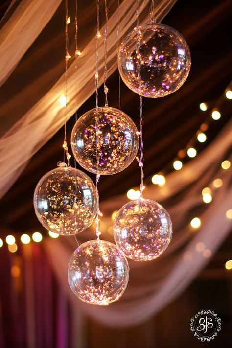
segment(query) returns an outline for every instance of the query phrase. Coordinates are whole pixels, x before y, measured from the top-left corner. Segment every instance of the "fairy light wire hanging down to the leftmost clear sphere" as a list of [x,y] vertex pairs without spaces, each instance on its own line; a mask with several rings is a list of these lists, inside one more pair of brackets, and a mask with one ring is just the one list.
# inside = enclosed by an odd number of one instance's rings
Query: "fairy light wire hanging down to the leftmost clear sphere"
[[64,126],[64,162],[65,156],[67,158],[67,164],[70,166],[70,154],[67,146],[66,139],[66,124],[67,124],[67,93],[68,93],[68,60],[71,58],[69,54],[69,36],[68,36],[68,24],[70,23],[70,17],[68,14],[68,0],[65,0],[65,105],[64,105],[64,114],[65,114],[65,126]]

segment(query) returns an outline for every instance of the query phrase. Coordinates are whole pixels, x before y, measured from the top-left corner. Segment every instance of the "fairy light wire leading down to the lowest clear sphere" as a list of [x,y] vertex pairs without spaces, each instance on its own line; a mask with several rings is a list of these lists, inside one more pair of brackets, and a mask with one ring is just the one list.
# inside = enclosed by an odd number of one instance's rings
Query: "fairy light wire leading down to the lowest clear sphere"
[[[99,71],[99,55],[98,55],[98,46],[99,46],[99,38],[100,38],[100,32],[99,32],[99,14],[100,14],[100,10],[99,10],[99,0],[96,0],[96,6],[97,6],[97,26],[96,26],[96,73],[95,73],[95,88],[96,88],[96,109],[98,108],[98,90],[99,90],[99,82],[98,82],[98,71]],[[99,182],[100,179],[100,175],[98,174],[98,165],[99,165],[99,156],[98,156],[98,135],[99,135],[99,131],[98,131],[98,121],[99,121],[99,116],[97,113],[96,116],[96,162],[97,162],[97,169],[96,169],[96,236],[97,236],[97,240],[100,240],[100,218],[99,216],[101,216],[101,211],[99,209],[99,192],[98,192],[98,187],[97,184]]]

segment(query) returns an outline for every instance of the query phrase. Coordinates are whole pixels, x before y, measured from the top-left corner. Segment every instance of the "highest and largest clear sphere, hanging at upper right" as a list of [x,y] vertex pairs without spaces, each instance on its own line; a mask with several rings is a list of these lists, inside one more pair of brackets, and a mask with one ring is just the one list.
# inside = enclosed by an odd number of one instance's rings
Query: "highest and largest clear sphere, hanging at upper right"
[[[183,36],[168,25],[148,23],[134,28],[118,51],[118,69],[128,88],[148,98],[177,91],[191,66]],[[139,78],[140,67],[140,78]]]

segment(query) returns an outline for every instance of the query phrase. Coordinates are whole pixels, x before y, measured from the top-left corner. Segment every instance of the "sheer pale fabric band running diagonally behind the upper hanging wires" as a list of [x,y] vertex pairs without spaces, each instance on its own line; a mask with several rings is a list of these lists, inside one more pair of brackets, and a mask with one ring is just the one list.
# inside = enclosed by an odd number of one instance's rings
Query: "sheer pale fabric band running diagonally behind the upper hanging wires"
[[[26,2],[26,0],[24,1]],[[24,1],[22,1],[22,4]],[[112,1],[109,1],[109,6]],[[157,0],[157,21],[162,20],[175,2],[176,0]],[[33,1],[34,6],[37,6],[36,3],[37,1]],[[50,1],[44,0],[44,3],[50,3]],[[139,17],[140,23],[144,23],[148,18],[149,3],[149,0],[144,0],[141,3]],[[121,40],[133,25],[135,25],[134,5],[134,0],[124,0],[119,6],[119,13],[123,14],[120,22],[119,40]],[[54,7],[55,4],[53,9]],[[42,12],[40,12],[40,15],[42,16]],[[117,66],[117,21],[118,13],[115,11],[108,21],[108,76],[116,70]],[[11,25],[14,26],[13,23]],[[42,25],[37,28],[37,35],[39,34],[41,27]],[[30,30],[30,25],[24,26],[21,30],[21,37],[24,37],[25,34],[30,35]],[[100,31],[103,33],[103,30],[104,29],[101,28]],[[36,37],[36,33],[34,33],[34,37]],[[23,41],[22,46],[23,52],[27,49],[28,45]],[[95,35],[92,40],[86,42],[86,46],[82,50],[82,55],[76,60],[76,67],[75,62],[73,62],[68,69],[67,118],[70,118],[83,102],[94,92],[95,66],[93,64],[93,52],[95,52]],[[10,57],[10,53],[8,55],[9,60],[13,59]],[[15,58],[14,62],[11,64],[12,67],[14,67],[17,62],[18,59]],[[103,82],[103,68],[104,43],[101,41],[99,45],[100,84]],[[26,71],[26,73],[29,74],[29,71]],[[26,114],[10,129],[8,129],[0,139],[0,197],[2,197],[2,195],[4,195],[4,193],[14,183],[30,157],[36,153],[64,124],[64,111],[59,101],[63,91],[64,75],[60,76],[57,83],[46,93],[46,95],[29,111],[27,111]],[[24,99],[22,96],[22,108],[23,103]],[[4,106],[2,106],[2,108],[3,107]],[[10,115],[8,115],[8,117],[9,116]],[[7,117],[4,121],[7,122]]]

